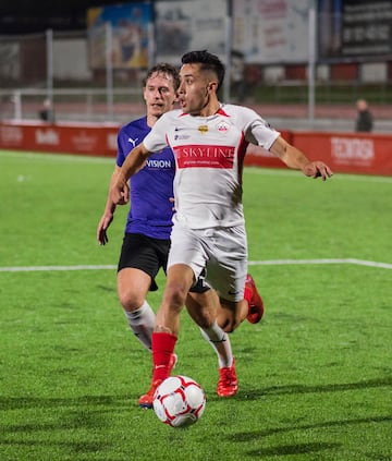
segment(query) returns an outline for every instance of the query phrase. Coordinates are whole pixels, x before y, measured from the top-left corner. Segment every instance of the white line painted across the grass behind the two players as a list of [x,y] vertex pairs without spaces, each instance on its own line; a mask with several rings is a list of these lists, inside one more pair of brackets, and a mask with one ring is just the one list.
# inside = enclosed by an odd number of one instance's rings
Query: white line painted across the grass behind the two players
[[[353,264],[357,266],[378,267],[381,269],[392,269],[392,264],[378,263],[375,260],[363,260],[355,258],[347,259],[271,259],[271,260],[249,260],[249,266],[282,266],[282,265],[314,265],[314,264]],[[56,271],[56,270],[112,270],[117,269],[114,265],[102,266],[26,266],[26,267],[0,267],[0,272],[35,272],[35,271]]]

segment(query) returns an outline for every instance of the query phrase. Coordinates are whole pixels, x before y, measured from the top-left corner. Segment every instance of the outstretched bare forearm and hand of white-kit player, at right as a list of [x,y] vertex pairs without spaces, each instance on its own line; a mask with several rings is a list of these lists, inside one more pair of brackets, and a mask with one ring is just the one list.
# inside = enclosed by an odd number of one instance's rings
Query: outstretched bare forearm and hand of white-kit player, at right
[[310,161],[299,149],[289,144],[282,136],[278,136],[270,151],[279,157],[289,168],[302,170],[306,177],[321,178],[326,181],[331,178],[332,170],[323,161]]

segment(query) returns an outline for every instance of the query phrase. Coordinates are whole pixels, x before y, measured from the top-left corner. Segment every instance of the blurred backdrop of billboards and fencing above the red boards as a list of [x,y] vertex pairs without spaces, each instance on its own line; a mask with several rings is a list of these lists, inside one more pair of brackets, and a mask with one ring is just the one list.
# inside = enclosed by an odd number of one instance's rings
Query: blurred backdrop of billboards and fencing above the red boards
[[390,131],[392,0],[2,0],[0,117],[49,100],[57,121],[125,122],[146,69],[191,49],[225,62],[224,100],[287,129],[354,129],[364,98]]

